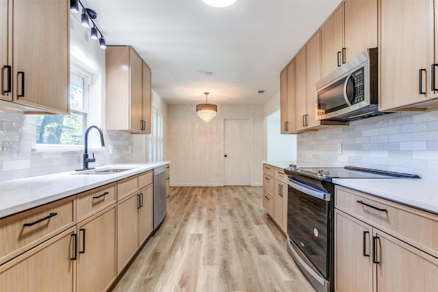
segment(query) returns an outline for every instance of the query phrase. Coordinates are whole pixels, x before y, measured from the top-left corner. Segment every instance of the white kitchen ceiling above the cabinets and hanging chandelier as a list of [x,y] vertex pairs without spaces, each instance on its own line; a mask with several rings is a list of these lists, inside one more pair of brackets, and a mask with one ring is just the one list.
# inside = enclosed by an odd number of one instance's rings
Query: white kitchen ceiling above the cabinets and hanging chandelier
[[280,71],[340,2],[82,1],[97,12],[107,44],[136,49],[152,70],[153,90],[170,104],[203,103],[205,91],[211,103],[265,103],[279,92]]

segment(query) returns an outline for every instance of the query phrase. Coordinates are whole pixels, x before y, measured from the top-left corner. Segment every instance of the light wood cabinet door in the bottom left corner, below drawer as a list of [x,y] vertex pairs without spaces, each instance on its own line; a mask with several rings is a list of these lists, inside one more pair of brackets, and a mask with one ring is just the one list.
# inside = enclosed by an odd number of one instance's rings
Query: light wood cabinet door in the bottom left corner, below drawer
[[75,227],[0,266],[1,291],[75,291]]

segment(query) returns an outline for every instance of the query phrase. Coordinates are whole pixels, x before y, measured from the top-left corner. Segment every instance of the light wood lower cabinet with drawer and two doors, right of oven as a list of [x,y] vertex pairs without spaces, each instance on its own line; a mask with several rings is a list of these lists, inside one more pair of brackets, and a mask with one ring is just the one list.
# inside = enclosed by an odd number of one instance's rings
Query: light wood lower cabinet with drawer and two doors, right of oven
[[[351,196],[355,198],[355,209],[346,208]],[[335,291],[437,291],[438,258],[422,250],[425,245],[415,243],[414,234],[411,237],[399,235],[400,227],[415,226],[422,217],[405,220],[408,213],[397,217],[396,203],[385,205],[381,199],[377,202],[368,195],[348,189],[337,189],[335,200],[337,207],[343,209],[335,209]],[[400,208],[410,211],[409,207]],[[412,212],[418,213],[415,209]],[[354,217],[356,215],[361,220]],[[364,216],[370,219],[363,222]],[[389,224],[387,233],[376,228],[381,222]],[[435,226],[434,221],[422,222],[425,223],[428,226],[417,226],[417,229],[432,230]],[[430,233],[428,238],[433,236]]]

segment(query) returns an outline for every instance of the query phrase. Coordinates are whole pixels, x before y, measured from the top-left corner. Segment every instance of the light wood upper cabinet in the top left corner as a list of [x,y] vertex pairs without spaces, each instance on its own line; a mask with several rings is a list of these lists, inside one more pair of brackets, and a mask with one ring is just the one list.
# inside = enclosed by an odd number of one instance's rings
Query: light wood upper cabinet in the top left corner
[[69,12],[66,0],[1,1],[0,99],[28,114],[68,114]]

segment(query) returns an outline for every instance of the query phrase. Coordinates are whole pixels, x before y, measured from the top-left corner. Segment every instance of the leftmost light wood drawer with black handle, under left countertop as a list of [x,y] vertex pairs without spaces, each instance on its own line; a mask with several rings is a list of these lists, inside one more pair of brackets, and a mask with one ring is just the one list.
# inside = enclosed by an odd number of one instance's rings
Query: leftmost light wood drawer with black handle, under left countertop
[[0,220],[0,264],[53,237],[76,221],[75,196]]

